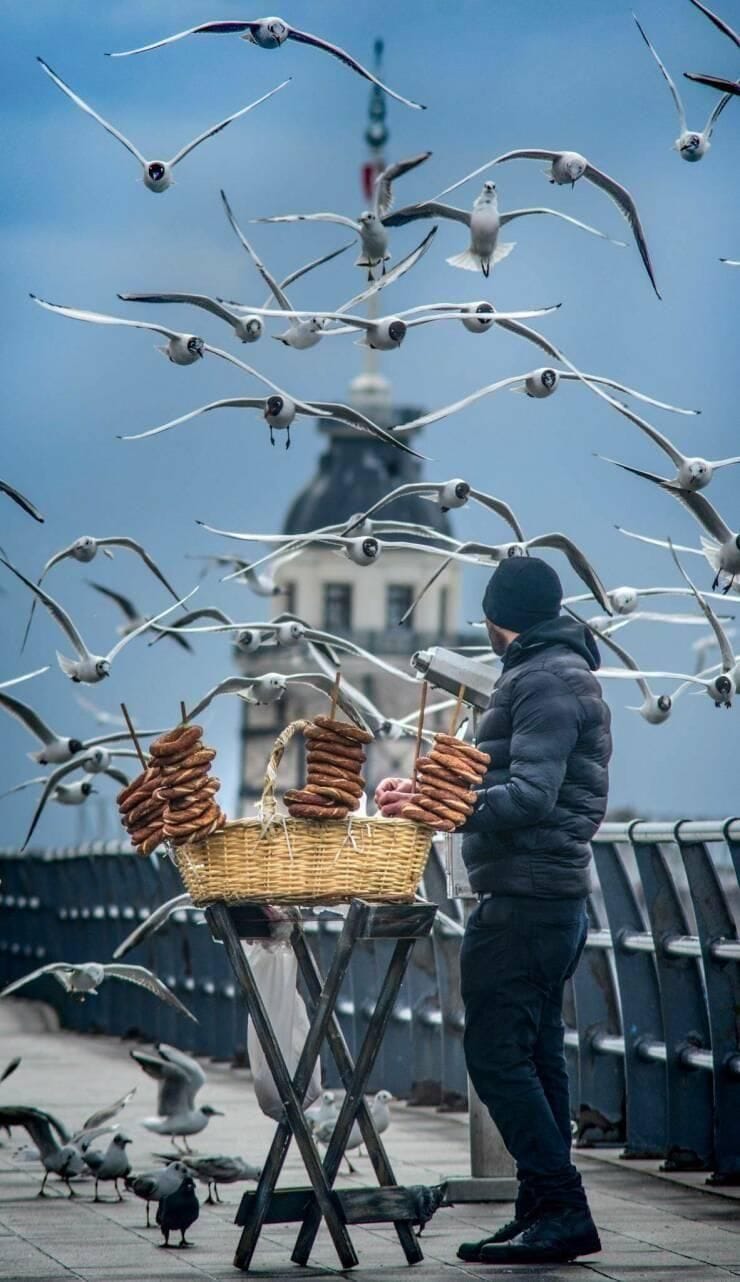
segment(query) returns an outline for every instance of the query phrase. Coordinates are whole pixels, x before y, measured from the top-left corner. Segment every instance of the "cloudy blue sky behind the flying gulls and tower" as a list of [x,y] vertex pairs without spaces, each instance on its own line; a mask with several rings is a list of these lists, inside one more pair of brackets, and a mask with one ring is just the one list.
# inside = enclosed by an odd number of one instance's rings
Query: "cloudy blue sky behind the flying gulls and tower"
[[[263,291],[255,291],[221,210],[221,186],[240,219],[318,209],[359,213],[368,90],[328,56],[291,44],[268,54],[235,37],[186,40],[141,58],[103,56],[104,50],[144,44],[209,18],[249,17],[248,8],[233,0],[214,6],[200,0],[110,0],[103,6],[68,0],[63,8],[53,0],[10,0],[5,6],[8,181],[0,218],[10,412],[0,474],[26,491],[47,519],[36,526],[4,501],[0,542],[28,574],[82,533],[135,533],[187,591],[195,576],[185,554],[222,550],[198,529],[195,518],[228,528],[278,528],[290,497],[313,470],[319,437],[310,422],[295,431],[289,454],[271,450],[256,415],[213,415],[162,440],[118,441],[117,433],[142,431],[214,397],[237,395],[245,382],[215,362],[177,369],[144,333],[64,322],[27,297],[32,290],[54,301],[130,315],[144,309],[126,310],[115,297],[119,290],[192,290],[259,301]],[[737,0],[723,0],[722,12],[740,21]],[[431,196],[512,147],[582,151],[635,194],[663,294],[659,303],[632,245],[617,249],[548,218],[517,223],[510,237],[517,249],[486,285],[446,265],[445,258],[463,247],[460,229],[448,223],[423,267],[392,287],[392,296],[389,291],[389,309],[482,296],[501,309],[562,303],[541,327],[581,369],[700,406],[696,419],[659,410],[648,417],[689,451],[737,453],[740,271],[723,268],[718,258],[740,256],[740,104],[731,103],[718,122],[711,154],[698,165],[682,163],[671,150],[678,131],[667,86],[630,6],[614,0],[287,0],[281,14],[366,62],[382,35],[387,82],[428,104],[421,113],[390,103],[387,158],[427,147],[433,153],[404,179],[403,192],[399,185],[399,200]],[[689,85],[681,72],[736,76],[736,51],[684,0],[641,0],[637,15],[680,83],[690,126],[700,128],[714,96]],[[36,54],[153,154],[173,154],[286,76],[292,83],[187,158],[177,185],[154,196],[137,181],[136,162],[58,92],[36,65]],[[501,167],[496,181],[504,209],[549,204],[628,238],[617,210],[585,183],[572,192],[553,188],[531,162]],[[451,199],[462,204],[476,191],[477,182]],[[342,242],[341,231],[332,227],[253,232],[278,273]],[[418,226],[399,229],[394,255],[414,245],[418,232]],[[298,286],[295,301],[331,308],[358,285],[359,273],[346,255]],[[147,310],[145,317],[155,314]],[[171,308],[159,315],[212,342],[230,342],[226,328],[204,314]],[[339,399],[359,358],[345,340],[309,353],[263,340],[248,349],[246,359],[299,395]],[[400,401],[432,408],[539,363],[534,349],[510,336],[473,337],[458,327],[428,326],[385,356],[383,370]],[[639,467],[663,467],[662,455],[636,428],[581,387],[564,386],[548,403],[499,394],[430,428],[423,447],[435,460],[427,464],[428,476],[475,478],[509,500],[531,535],[566,531],[609,586],[672,582],[675,574],[667,554],[625,540],[616,523],[698,545],[699,529],[678,504],[593,456],[599,451]],[[734,526],[739,479],[737,470],[726,470],[709,495]],[[473,509],[457,515],[455,529],[463,537],[507,537],[498,522]],[[562,569],[559,559],[554,564]],[[704,563],[686,558],[686,564],[708,587]],[[486,572],[466,576],[469,618],[477,614]],[[128,592],[149,613],[165,604],[133,558],[118,555],[108,564],[99,559],[90,570],[74,563],[60,567],[49,587],[85,624],[94,647],[108,649],[118,619],[86,586],[88,577]],[[563,577],[577,590],[568,573]],[[21,659],[27,596],[5,573],[3,587],[0,677],[50,663],[50,672],[22,688],[21,697],[58,729],[92,733],[92,722],[55,664],[58,629],[38,618]],[[199,603],[206,600],[236,609],[228,585],[213,577],[199,592]],[[250,605],[259,617],[259,599]],[[622,637],[645,667],[684,670],[695,635],[636,623]],[[228,655],[218,641],[205,641],[195,659],[169,646],[150,651],[133,642],[92,697],[108,709],[126,699],[137,719],[171,723],[182,694],[196,695],[227,670]],[[735,810],[731,762],[740,710],[716,712],[707,699],[685,699],[672,722],[653,728],[625,712],[636,701],[634,694],[626,683],[613,682],[608,690],[617,745],[613,803],[645,814]],[[222,751],[221,774],[231,787],[236,718],[227,700],[208,714],[208,735]],[[0,787],[9,787],[33,773],[24,758],[32,741],[8,718],[0,731]],[[232,795],[224,795],[227,804]],[[31,805],[29,794],[3,803],[3,844],[23,833]],[[54,806],[38,838],[64,841],[72,832],[69,817]]]

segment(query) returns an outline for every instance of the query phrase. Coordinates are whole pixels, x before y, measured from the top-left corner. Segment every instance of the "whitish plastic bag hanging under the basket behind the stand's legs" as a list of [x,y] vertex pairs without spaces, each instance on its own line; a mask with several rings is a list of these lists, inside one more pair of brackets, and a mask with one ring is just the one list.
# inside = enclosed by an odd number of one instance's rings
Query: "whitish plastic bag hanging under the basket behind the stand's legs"
[[[308,1011],[298,991],[298,962],[290,944],[254,941],[244,944],[244,953],[259,990],[268,1019],[292,1077],[308,1033]],[[283,1101],[264,1058],[254,1023],[246,1029],[246,1053],[254,1077],[254,1094],[262,1111],[280,1122]],[[308,1109],[321,1095],[321,1060],[315,1061],[303,1101]]]

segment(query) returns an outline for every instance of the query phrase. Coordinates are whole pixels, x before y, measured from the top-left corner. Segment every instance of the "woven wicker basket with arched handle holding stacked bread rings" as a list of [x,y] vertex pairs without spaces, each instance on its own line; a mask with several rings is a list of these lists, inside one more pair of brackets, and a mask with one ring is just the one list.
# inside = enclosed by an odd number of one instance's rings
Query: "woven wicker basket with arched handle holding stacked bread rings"
[[337,904],[354,896],[381,903],[413,900],[432,828],[409,819],[350,815],[317,820],[278,814],[277,768],[292,736],[307,724],[292,722],[274,741],[262,818],[237,819],[174,850],[194,904]]

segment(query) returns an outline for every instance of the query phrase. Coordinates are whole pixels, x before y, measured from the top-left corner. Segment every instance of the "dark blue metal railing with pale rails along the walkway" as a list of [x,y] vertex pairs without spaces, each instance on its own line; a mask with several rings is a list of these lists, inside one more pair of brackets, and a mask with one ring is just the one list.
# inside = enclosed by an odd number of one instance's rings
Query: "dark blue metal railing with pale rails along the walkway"
[[[587,946],[564,1001],[577,1144],[617,1144],[625,1158],[660,1158],[667,1169],[740,1182],[740,819],[605,823],[594,860]],[[423,890],[440,917],[414,951],[369,1085],[417,1104],[466,1108],[464,908],[449,897],[448,870],[435,844]],[[168,860],[140,859],[114,842],[0,851],[0,981],[51,960],[109,959],[137,920],[181,890]],[[331,915],[307,926],[322,969],[340,926]],[[350,1049],[372,1014],[383,947],[358,949],[341,994]],[[28,995],[53,1004],[72,1028],[244,1058],[242,1006],[201,913],[174,914],[131,962],[155,970],[199,1023],[124,985],[104,985],[86,1003],[53,979]],[[324,1078],[339,1085],[331,1061]]]

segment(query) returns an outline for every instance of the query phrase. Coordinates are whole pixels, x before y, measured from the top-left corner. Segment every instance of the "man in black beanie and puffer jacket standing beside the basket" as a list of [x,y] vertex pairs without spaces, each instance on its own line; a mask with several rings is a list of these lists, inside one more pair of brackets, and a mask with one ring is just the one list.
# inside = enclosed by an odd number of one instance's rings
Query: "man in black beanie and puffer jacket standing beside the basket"
[[[491,576],[484,614],[503,660],[478,747],[491,763],[463,832],[478,905],[463,941],[468,1073],[517,1163],[514,1219],[463,1260],[558,1263],[600,1250],[571,1161],[563,985],[586,940],[590,838],[607,808],[609,710],[593,676],[591,633],[560,615],[555,572],[510,558]],[[383,779],[383,814],[408,799]]]

